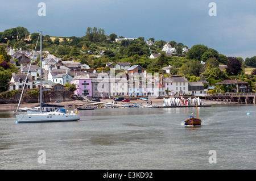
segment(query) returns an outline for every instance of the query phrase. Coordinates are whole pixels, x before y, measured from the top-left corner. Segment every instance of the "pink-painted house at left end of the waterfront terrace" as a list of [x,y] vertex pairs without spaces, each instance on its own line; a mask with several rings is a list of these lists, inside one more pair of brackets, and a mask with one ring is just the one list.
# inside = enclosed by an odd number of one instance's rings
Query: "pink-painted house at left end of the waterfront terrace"
[[76,95],[85,95],[92,98],[92,79],[86,75],[79,75],[71,79],[71,84],[76,85]]

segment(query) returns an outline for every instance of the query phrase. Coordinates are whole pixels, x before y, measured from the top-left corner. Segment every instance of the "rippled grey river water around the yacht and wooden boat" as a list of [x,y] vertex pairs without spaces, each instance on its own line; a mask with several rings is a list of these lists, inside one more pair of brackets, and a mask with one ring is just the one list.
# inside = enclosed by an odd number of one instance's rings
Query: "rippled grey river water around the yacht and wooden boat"
[[201,127],[184,127],[191,112],[98,108],[23,124],[0,112],[0,169],[256,169],[254,105],[199,107]]

